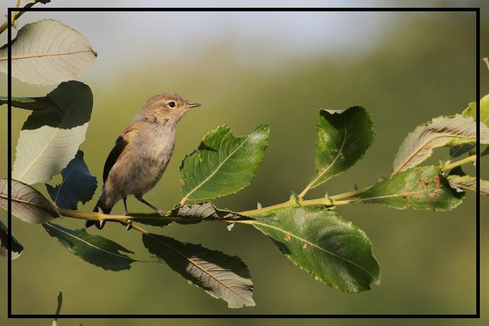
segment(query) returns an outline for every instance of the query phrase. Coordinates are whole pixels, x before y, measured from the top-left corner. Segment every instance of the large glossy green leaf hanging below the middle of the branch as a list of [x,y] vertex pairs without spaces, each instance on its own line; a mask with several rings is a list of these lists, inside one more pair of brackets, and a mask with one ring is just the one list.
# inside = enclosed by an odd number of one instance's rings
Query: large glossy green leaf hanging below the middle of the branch
[[357,293],[379,284],[380,267],[367,235],[322,206],[276,209],[252,224],[285,257],[336,289]]

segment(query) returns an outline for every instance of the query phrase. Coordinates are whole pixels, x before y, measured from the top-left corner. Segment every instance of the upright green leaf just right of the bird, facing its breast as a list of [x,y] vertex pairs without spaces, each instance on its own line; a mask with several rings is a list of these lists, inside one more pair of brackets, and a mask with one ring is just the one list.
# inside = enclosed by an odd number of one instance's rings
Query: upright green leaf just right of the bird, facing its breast
[[225,125],[208,132],[180,167],[182,203],[223,197],[247,187],[263,161],[269,136],[268,124],[238,138]]

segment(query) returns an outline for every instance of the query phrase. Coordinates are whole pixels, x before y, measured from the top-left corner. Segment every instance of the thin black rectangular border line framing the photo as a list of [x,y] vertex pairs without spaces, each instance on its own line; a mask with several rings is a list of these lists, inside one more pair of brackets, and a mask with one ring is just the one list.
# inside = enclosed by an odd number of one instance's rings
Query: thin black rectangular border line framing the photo
[[[481,93],[481,82],[480,82],[480,69],[481,69],[481,13],[480,8],[45,8],[45,7],[30,7],[30,8],[8,8],[8,21],[11,21],[11,15],[13,11],[472,11],[476,13],[476,112],[477,112],[477,122],[480,122],[480,104],[479,98]],[[11,97],[12,97],[12,85],[11,85],[11,40],[12,40],[12,26],[8,24],[8,127],[7,127],[7,141],[8,141],[8,155],[7,155],[7,167],[8,167],[8,243],[9,248],[12,246],[12,234],[11,234],[11,180],[12,180],[12,135],[11,135]],[[480,155],[480,125],[477,124],[477,140],[476,140],[476,153],[477,156]],[[476,193],[480,190],[480,173],[481,167],[479,164],[476,165]],[[464,318],[464,319],[479,319],[481,318],[481,237],[480,237],[480,226],[481,226],[481,203],[480,195],[476,196],[476,313],[475,314],[13,314],[11,305],[11,294],[12,294],[12,271],[11,271],[11,251],[8,250],[8,318],[26,318],[26,319],[40,319],[40,318],[77,318],[77,319],[88,319],[88,318],[341,318],[341,319],[358,319],[358,318],[410,318],[410,319],[445,319],[445,318]]]

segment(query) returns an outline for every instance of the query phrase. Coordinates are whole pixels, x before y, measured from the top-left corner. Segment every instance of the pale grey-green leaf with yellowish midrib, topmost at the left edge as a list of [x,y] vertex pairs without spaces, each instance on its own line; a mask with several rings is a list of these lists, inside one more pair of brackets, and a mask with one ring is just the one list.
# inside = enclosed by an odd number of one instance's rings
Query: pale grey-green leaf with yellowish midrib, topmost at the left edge
[[[73,28],[45,19],[24,25],[11,43],[12,76],[27,83],[51,85],[84,74],[97,53]],[[8,46],[0,47],[0,71],[7,74]]]

